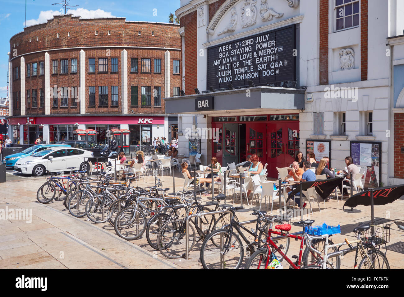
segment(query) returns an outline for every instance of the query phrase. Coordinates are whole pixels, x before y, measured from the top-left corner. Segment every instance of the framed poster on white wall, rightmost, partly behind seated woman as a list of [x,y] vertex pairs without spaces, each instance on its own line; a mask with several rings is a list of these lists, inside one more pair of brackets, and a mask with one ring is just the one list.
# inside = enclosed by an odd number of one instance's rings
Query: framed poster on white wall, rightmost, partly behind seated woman
[[353,164],[365,170],[364,190],[379,187],[381,181],[381,142],[351,141]]

